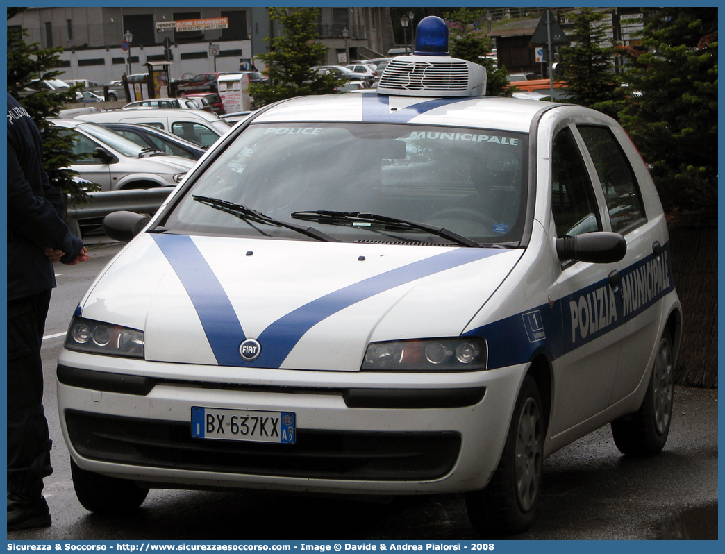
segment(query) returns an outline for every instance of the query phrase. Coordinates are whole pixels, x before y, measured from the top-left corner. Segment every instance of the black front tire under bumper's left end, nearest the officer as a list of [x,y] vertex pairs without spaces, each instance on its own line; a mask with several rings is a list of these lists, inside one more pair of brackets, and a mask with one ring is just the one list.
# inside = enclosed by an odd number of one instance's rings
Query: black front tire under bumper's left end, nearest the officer
[[81,469],[71,459],[70,475],[78,502],[90,512],[120,514],[136,510],[146,500],[149,489],[136,481],[117,479]]

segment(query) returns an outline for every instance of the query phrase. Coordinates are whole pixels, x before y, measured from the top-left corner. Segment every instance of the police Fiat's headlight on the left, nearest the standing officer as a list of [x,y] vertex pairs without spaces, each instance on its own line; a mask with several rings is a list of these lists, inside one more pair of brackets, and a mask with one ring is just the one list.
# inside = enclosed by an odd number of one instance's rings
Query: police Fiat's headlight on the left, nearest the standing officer
[[142,358],[144,331],[74,317],[65,337],[65,347],[78,352]]

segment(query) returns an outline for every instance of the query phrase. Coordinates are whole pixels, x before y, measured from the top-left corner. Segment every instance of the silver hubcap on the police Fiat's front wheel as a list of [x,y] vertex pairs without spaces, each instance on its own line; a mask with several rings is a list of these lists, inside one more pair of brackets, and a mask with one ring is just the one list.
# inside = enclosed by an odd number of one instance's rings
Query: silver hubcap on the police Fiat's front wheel
[[542,468],[542,420],[539,406],[527,398],[516,433],[516,493],[521,509],[530,510],[539,492]]

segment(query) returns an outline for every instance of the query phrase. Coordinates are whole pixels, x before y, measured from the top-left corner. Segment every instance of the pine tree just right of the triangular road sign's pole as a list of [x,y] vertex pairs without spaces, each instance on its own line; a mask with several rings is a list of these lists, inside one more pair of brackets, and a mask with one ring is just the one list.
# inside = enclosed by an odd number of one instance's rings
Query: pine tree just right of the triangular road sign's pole
[[557,67],[566,83],[566,88],[561,88],[566,102],[602,109],[598,104],[615,99],[615,46],[609,38],[612,26],[605,23],[605,17],[605,12],[593,8],[581,8],[571,16],[571,46],[560,48]]

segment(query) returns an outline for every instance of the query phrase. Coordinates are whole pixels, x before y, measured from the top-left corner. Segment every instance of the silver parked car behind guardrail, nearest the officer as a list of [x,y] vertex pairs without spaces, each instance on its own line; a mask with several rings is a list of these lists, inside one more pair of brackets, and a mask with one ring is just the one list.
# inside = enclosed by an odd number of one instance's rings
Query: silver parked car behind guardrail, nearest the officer
[[101,191],[175,186],[194,167],[194,160],[140,146],[110,129],[78,120],[51,119],[73,143],[81,159],[70,165]]

